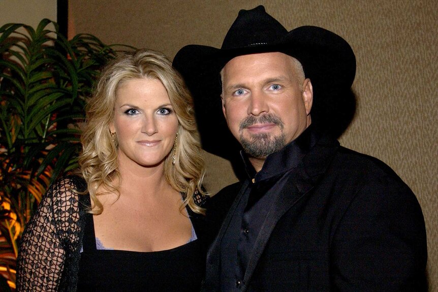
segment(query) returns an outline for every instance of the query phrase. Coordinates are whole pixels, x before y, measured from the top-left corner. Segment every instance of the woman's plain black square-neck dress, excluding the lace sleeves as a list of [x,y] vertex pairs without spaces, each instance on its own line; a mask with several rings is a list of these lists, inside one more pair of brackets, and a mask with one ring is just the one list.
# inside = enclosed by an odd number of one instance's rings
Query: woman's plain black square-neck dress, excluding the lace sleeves
[[199,291],[205,270],[200,242],[154,252],[97,249],[93,216],[86,214],[77,290]]

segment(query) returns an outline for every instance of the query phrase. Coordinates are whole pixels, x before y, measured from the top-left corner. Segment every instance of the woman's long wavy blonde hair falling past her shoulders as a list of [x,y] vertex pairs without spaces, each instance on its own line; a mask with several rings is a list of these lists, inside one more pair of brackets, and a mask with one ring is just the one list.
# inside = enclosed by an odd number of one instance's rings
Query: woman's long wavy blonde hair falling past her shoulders
[[[113,145],[109,125],[114,118],[116,91],[126,80],[152,78],[160,80],[169,94],[170,103],[178,118],[178,143],[175,153],[168,155],[164,162],[164,176],[169,184],[184,194],[181,208],[186,205],[196,213],[204,209],[196,204],[195,193],[207,193],[202,189],[205,173],[201,156],[201,144],[196,126],[193,100],[181,76],[172,68],[172,63],[158,51],[139,49],[118,55],[103,70],[93,95],[87,103],[86,122],[81,142],[83,151],[79,156],[82,176],[87,182],[92,214],[103,211],[98,196],[108,192],[119,195],[120,181],[117,163],[117,146]],[[115,179],[117,178],[117,179]],[[104,189],[99,192],[98,189]]]

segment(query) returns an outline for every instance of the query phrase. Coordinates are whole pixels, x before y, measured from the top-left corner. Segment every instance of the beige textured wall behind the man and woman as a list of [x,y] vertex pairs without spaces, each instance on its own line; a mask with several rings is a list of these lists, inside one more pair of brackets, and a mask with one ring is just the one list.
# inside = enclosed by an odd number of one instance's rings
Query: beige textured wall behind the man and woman
[[[10,19],[12,2],[18,9],[24,3],[34,8],[24,19]],[[48,8],[42,3],[54,3],[56,13],[54,0],[0,0],[1,22],[38,23],[31,20],[32,12]],[[161,50],[173,58],[186,44],[220,47],[237,11],[258,4],[289,30],[322,26],[353,47],[358,107],[340,142],[385,161],[417,194],[426,220],[430,291],[438,291],[438,2],[75,0],[70,1],[70,20],[75,33]],[[236,180],[227,161],[207,153],[206,157],[210,191]]]

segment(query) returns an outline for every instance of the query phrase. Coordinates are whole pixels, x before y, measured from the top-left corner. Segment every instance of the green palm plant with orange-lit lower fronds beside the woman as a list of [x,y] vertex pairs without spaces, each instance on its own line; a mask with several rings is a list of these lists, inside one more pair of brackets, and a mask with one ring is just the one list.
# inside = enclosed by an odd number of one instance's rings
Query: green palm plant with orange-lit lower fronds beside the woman
[[77,168],[85,100],[116,47],[132,49],[67,40],[48,19],[0,27],[0,275],[11,287],[17,241],[50,183]]

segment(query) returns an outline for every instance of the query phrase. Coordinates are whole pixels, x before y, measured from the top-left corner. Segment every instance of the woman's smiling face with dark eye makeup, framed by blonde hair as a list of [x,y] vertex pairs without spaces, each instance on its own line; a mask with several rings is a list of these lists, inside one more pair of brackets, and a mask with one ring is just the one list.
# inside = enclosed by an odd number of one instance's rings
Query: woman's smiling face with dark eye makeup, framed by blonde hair
[[139,78],[120,84],[110,125],[117,136],[120,164],[162,164],[172,150],[177,128],[178,119],[160,80]]

